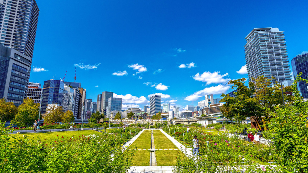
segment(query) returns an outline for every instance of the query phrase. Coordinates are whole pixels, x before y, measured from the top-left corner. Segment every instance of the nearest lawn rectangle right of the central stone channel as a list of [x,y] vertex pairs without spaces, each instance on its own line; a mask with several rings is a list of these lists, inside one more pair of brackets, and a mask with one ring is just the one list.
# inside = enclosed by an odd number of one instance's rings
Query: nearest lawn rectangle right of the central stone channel
[[[169,140],[169,139],[168,139]],[[176,157],[178,155],[177,150],[157,150],[156,154],[156,163],[157,166],[175,166]],[[181,153],[183,155],[183,153]]]

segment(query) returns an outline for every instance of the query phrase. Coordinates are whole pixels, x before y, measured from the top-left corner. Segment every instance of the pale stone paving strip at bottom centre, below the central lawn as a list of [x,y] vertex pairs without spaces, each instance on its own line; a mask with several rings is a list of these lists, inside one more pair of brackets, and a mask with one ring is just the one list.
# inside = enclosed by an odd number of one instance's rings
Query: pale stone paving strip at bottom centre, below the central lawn
[[172,173],[171,166],[136,166],[131,167],[128,173]]

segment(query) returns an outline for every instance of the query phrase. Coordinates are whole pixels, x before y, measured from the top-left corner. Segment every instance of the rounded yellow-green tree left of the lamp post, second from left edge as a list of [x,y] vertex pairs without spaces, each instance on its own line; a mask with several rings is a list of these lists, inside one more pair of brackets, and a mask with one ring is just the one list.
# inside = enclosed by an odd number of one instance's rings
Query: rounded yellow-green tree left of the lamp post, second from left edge
[[23,99],[18,107],[18,113],[12,123],[18,127],[32,126],[35,120],[39,119],[39,103],[34,103],[31,98]]

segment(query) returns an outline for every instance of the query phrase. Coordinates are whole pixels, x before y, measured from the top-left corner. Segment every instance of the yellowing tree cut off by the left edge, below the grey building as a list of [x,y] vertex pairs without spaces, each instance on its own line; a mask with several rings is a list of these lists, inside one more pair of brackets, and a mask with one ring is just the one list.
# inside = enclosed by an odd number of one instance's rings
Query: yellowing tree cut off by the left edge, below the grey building
[[17,107],[13,102],[6,102],[5,98],[0,99],[0,122],[10,121],[15,118]]

